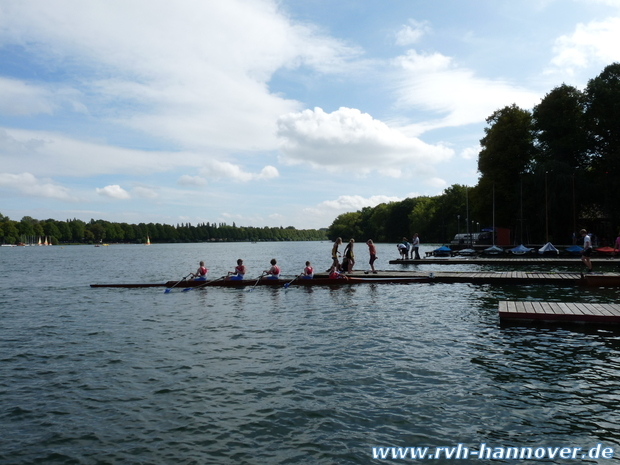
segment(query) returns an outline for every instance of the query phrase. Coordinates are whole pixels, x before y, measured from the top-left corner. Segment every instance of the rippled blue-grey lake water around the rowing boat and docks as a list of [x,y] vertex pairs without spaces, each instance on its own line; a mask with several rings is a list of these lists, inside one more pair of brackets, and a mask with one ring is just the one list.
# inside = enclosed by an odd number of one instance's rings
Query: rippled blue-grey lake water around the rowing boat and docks
[[[0,248],[0,463],[368,464],[384,462],[373,447],[459,443],[620,457],[620,333],[497,316],[499,300],[615,302],[616,290],[89,287],[165,282],[199,260],[218,277],[237,258],[252,278],[276,257],[292,279],[305,260],[327,269],[330,250]],[[401,269],[393,244],[378,255],[378,269]],[[363,243],[356,257],[365,269]]]

